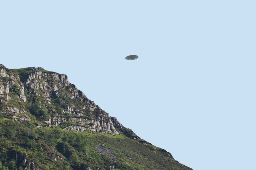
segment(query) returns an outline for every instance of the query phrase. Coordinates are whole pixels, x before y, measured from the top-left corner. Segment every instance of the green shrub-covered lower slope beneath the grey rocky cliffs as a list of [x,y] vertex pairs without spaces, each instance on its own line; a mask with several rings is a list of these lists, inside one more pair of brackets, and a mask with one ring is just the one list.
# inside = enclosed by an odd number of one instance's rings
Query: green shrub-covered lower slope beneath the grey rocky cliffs
[[[111,152],[101,155],[98,145]],[[124,135],[64,131],[59,126],[35,127],[31,122],[0,119],[0,161],[9,169],[22,169],[26,158],[41,169],[179,169],[160,148]],[[56,158],[57,161],[54,161]]]

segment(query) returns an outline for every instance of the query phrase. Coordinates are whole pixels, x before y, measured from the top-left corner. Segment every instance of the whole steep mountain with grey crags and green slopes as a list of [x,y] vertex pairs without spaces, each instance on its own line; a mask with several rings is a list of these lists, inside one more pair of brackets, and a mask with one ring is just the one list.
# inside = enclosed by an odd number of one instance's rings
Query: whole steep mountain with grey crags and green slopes
[[0,65],[0,146],[2,170],[192,170],[42,67]]

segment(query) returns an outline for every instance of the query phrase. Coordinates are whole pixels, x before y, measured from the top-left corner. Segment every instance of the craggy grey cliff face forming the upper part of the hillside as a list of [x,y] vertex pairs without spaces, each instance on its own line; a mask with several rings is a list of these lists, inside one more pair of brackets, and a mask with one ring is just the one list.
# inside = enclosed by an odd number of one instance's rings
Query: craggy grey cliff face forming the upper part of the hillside
[[[48,126],[60,125],[64,130],[80,132],[119,134],[115,126],[122,127],[116,118],[110,117],[71,84],[65,74],[45,71],[42,67],[10,70],[0,65],[0,80],[0,101],[6,104],[1,112],[13,119],[30,120],[26,114],[30,113]],[[16,91],[10,92],[14,88]],[[9,104],[10,100],[18,105]],[[40,107],[38,112],[45,108],[47,113],[33,113],[37,112],[31,109],[35,105]]]

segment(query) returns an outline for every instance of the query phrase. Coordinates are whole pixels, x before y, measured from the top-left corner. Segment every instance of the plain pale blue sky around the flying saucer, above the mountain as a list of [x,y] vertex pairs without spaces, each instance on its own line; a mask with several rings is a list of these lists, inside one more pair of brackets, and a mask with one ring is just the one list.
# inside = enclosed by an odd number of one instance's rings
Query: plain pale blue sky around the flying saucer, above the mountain
[[0,63],[67,74],[195,170],[255,169],[255,9],[255,0],[0,1]]

